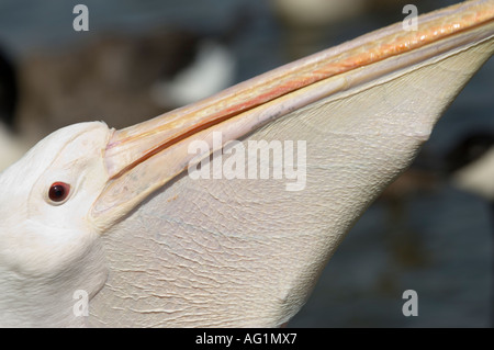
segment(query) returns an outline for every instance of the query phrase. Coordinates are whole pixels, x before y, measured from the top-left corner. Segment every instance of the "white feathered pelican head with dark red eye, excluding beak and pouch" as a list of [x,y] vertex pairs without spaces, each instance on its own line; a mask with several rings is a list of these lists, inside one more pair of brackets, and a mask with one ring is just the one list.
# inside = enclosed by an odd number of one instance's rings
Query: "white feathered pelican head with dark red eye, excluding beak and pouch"
[[103,123],[61,128],[2,172],[0,323],[71,325],[74,300],[60,289],[93,295],[104,283],[101,230],[88,214],[106,182],[110,135]]

